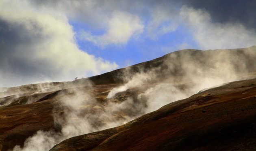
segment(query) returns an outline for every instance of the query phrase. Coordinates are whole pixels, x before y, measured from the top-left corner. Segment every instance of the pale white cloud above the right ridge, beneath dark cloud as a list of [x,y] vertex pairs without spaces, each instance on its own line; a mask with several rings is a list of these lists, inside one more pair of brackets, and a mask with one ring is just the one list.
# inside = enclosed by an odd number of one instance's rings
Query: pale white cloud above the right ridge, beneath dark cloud
[[250,47],[256,43],[256,32],[241,23],[213,23],[203,9],[182,6],[180,10],[185,25],[201,49]]

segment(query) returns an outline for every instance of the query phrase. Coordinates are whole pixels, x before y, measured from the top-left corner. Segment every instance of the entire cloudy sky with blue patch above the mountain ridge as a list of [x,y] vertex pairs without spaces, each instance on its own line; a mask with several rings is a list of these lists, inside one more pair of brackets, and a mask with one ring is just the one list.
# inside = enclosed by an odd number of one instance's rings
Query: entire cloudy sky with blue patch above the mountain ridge
[[0,87],[256,45],[256,0],[0,0]]

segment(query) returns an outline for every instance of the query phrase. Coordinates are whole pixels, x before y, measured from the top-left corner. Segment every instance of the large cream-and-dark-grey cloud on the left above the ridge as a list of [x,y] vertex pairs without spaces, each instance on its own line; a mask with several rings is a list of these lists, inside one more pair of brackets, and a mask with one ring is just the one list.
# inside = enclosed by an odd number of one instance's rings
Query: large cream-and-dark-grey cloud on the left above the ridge
[[117,68],[78,48],[65,14],[37,10],[26,0],[0,2],[0,27],[1,87],[72,80]]

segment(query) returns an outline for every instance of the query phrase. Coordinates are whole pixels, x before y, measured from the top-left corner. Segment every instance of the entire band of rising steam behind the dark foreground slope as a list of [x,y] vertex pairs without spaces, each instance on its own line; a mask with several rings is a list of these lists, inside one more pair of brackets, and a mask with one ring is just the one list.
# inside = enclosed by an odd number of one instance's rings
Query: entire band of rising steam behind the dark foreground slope
[[[137,71],[124,70],[122,79],[126,83],[113,88],[105,104],[95,99],[90,81],[81,87],[71,87],[60,95],[55,106],[64,108],[54,112],[54,121],[61,125],[61,131],[38,131],[26,140],[23,148],[16,146],[13,151],[49,150],[67,138],[122,125],[204,88],[241,80],[256,66],[255,57],[252,47],[245,51],[182,50],[170,53],[163,57],[160,66],[147,66],[148,70],[144,70],[145,66],[139,66]],[[121,102],[111,101],[123,97],[122,93],[135,95],[128,95]]]

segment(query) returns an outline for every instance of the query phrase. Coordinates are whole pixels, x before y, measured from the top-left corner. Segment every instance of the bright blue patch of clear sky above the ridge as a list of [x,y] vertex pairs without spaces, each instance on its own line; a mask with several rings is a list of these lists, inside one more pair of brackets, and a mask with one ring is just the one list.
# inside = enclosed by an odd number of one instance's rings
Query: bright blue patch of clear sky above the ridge
[[[76,42],[82,51],[86,51],[95,57],[102,57],[110,62],[116,62],[120,68],[152,60],[179,50],[177,46],[184,43],[184,41],[193,46],[193,49],[197,49],[197,44],[191,40],[191,35],[182,26],[178,26],[174,32],[163,34],[157,39],[142,34],[139,38],[131,38],[124,45],[109,45],[101,48],[89,41],[81,40],[79,37],[79,32],[82,30],[90,30],[88,26],[80,21],[69,23],[76,32]],[[104,31],[95,30],[92,33],[101,35],[104,34]]]

